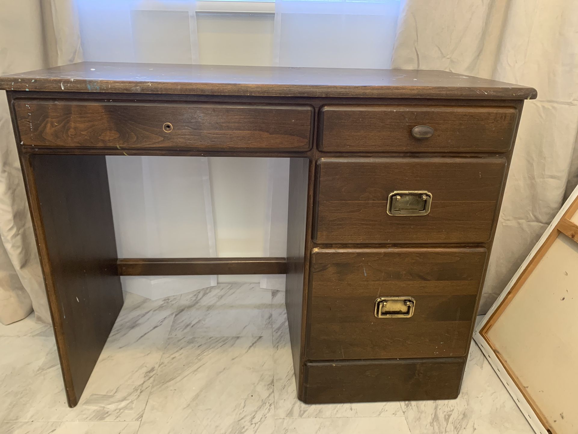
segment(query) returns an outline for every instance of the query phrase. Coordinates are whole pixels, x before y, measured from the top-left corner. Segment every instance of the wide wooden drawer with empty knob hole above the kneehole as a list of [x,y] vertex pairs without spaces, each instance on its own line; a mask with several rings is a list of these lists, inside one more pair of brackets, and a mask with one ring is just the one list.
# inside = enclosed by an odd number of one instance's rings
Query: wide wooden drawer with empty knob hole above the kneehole
[[15,104],[23,145],[110,149],[307,150],[313,107],[34,100]]

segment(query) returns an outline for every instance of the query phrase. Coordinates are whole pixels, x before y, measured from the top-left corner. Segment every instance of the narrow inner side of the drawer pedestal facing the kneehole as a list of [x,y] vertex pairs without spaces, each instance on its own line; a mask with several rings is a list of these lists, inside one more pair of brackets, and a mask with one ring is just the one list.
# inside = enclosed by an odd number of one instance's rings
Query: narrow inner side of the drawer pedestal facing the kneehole
[[300,398],[303,395],[303,362],[305,360],[305,319],[307,288],[309,286],[313,167],[312,161],[304,158],[292,158],[289,162],[285,305],[297,395]]

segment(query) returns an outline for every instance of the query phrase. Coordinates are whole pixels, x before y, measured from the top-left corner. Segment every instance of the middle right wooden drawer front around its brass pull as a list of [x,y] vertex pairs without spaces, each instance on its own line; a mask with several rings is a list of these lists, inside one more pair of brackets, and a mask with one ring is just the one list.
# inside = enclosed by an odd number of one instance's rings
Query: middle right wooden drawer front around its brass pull
[[[321,159],[316,241],[320,243],[486,242],[506,159]],[[431,194],[429,213],[390,215],[397,191]]]

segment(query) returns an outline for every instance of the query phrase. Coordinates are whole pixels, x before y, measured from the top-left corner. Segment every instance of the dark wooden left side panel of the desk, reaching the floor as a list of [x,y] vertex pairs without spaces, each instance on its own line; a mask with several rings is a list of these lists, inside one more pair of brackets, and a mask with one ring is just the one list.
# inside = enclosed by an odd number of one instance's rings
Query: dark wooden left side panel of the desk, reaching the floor
[[74,407],[123,306],[106,160],[23,155],[21,164],[66,398]]

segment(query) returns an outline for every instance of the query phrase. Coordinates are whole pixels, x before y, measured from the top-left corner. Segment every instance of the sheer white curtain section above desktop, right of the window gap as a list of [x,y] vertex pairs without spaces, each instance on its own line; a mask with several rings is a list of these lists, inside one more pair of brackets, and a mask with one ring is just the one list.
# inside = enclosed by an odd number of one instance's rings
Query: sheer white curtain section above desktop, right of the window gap
[[282,67],[389,68],[399,0],[276,0]]

